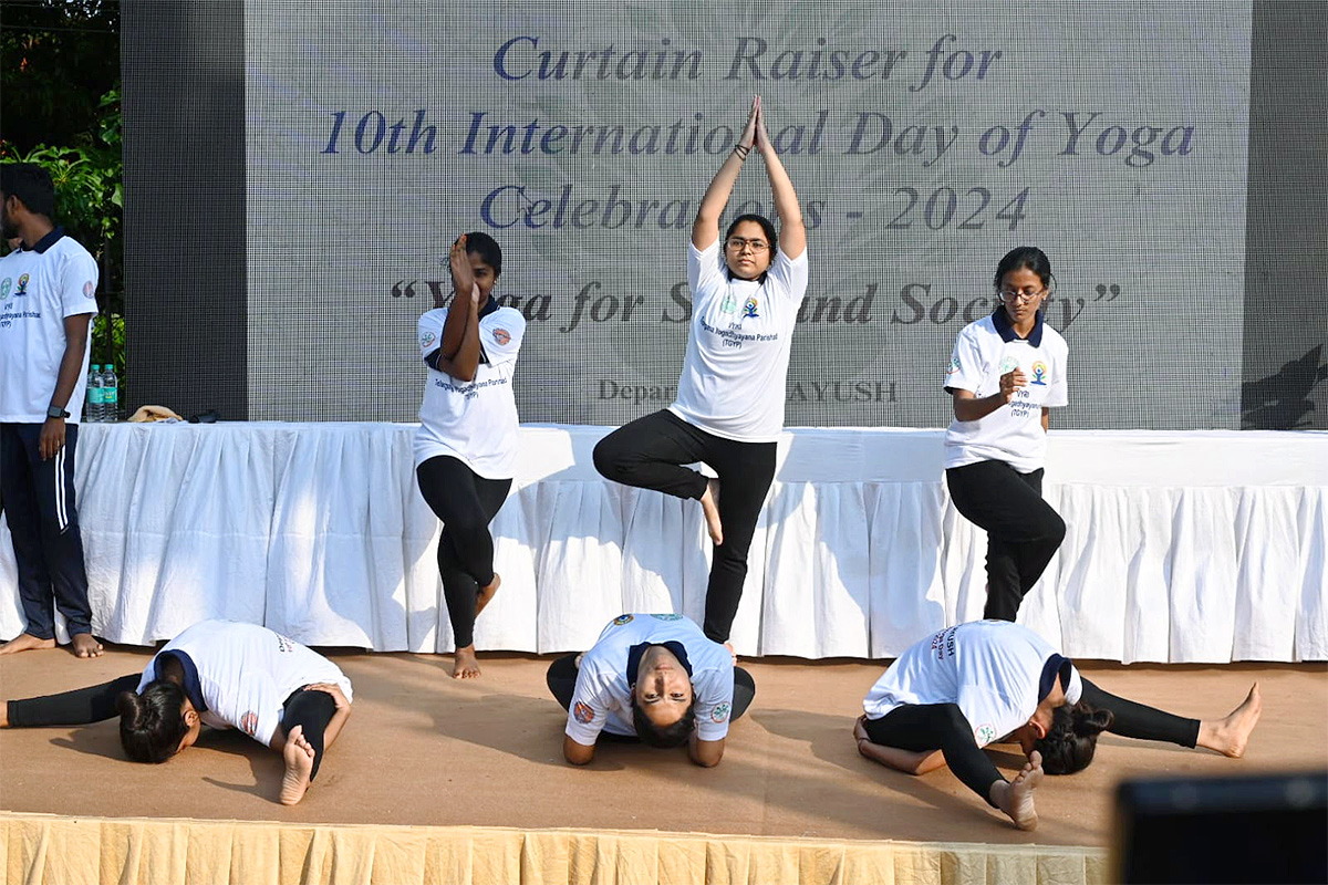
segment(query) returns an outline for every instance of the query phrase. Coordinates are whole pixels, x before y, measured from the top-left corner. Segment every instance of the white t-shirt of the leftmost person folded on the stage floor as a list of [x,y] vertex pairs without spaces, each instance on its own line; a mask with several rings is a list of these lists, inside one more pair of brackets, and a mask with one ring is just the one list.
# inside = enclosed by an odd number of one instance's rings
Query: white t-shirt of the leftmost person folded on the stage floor
[[158,678],[158,658],[167,651],[183,651],[193,662],[182,661],[185,693],[195,707],[199,701],[206,707],[198,707],[203,724],[239,728],[264,746],[282,724],[282,705],[296,689],[335,682],[352,699],[351,681],[337,665],[266,626],[238,621],[199,621],[167,642],[143,669],[139,694]]

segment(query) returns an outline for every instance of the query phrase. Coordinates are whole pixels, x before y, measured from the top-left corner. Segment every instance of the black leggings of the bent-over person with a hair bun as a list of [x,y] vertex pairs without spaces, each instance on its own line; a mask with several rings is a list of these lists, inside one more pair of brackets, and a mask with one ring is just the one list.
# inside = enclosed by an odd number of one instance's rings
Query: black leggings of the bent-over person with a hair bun
[[[1082,677],[1081,677],[1082,678]],[[1081,703],[1110,710],[1116,720],[1108,731],[1123,738],[1165,740],[1194,747],[1199,739],[1199,720],[1146,707],[1117,698],[1084,679]],[[867,736],[883,747],[911,752],[940,750],[946,764],[965,787],[991,804],[991,788],[1004,780],[995,763],[973,740],[973,727],[954,703],[906,703],[879,719],[867,719]]]

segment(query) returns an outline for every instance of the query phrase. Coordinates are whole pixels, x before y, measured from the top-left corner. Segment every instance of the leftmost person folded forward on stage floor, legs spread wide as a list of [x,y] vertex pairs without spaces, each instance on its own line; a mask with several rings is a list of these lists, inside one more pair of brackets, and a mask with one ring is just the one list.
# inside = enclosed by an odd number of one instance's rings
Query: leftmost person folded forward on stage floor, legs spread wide
[[282,754],[280,800],[304,797],[351,715],[351,681],[317,651],[264,626],[199,621],[142,673],[88,689],[0,701],[0,727],[81,726],[120,714],[134,762],[166,762],[203,726],[239,728]]

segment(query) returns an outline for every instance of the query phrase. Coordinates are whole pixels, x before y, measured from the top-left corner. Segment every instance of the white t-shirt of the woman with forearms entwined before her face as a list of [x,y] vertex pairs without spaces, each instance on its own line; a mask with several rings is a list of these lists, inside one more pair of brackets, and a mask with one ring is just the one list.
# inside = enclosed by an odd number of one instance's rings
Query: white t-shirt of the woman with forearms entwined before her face
[[[448,309],[420,317],[420,356],[442,346]],[[490,300],[479,316],[479,366],[474,381],[458,381],[429,369],[414,439],[416,466],[452,455],[485,479],[511,479],[517,472],[517,397],[511,377],[526,334],[526,317]]]

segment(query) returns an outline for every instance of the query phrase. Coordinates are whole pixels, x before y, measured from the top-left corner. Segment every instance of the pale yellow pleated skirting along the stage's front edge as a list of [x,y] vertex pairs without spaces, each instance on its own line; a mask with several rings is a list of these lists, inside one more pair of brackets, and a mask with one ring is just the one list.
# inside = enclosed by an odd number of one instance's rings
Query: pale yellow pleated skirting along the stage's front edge
[[1096,885],[1098,848],[0,812],[0,885]]

